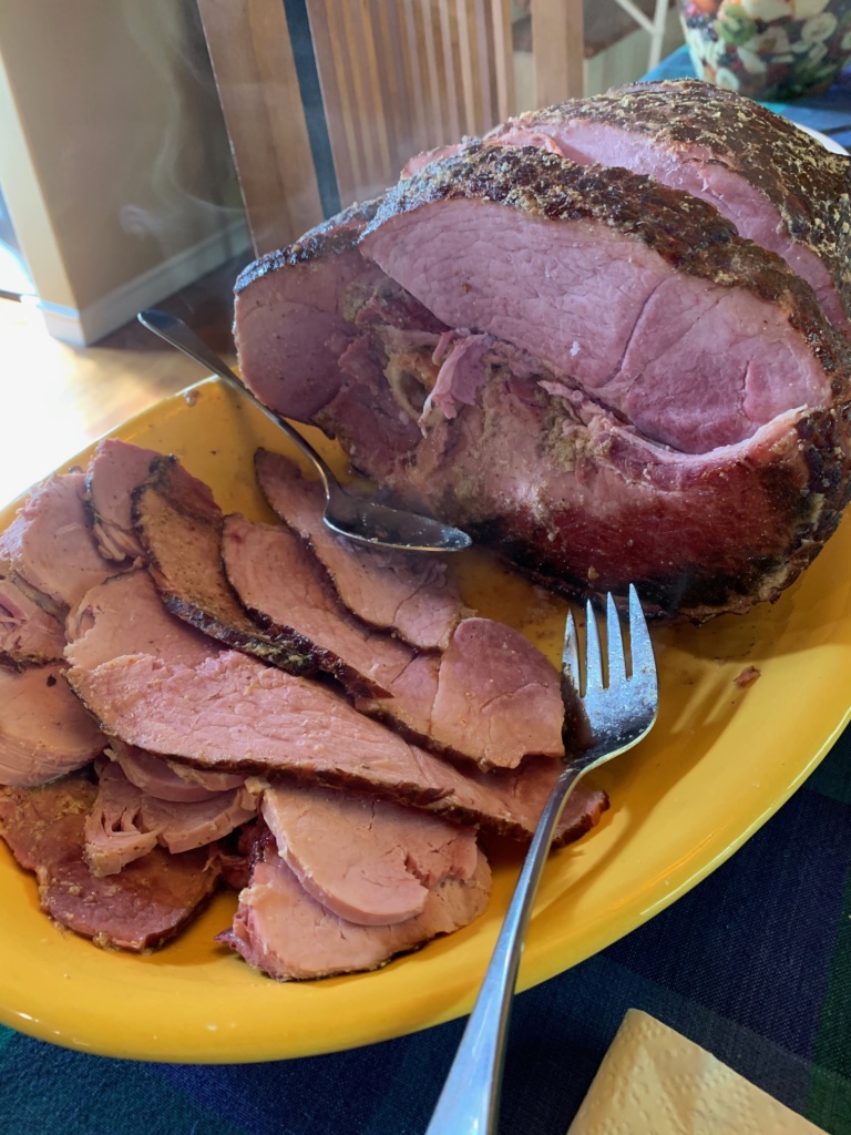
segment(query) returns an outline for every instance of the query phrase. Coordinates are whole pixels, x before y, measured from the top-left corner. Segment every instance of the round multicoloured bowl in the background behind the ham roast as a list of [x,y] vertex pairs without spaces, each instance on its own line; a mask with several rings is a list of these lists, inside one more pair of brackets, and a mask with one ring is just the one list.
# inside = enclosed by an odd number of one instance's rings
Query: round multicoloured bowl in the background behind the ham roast
[[797,99],[851,62],[851,0],[679,0],[698,78],[753,99]]

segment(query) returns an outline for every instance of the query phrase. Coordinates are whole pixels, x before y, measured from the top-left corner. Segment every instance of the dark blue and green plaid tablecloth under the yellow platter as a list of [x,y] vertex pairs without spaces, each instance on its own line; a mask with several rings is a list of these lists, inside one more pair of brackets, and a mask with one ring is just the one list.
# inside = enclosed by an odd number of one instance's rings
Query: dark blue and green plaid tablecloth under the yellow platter
[[[688,73],[677,52],[655,76]],[[790,112],[820,129],[851,121],[851,75]],[[851,144],[851,131],[837,138]],[[564,1135],[630,1007],[851,1135],[851,731],[709,878],[517,997],[500,1132]],[[108,1060],[0,1028],[0,1135],[415,1135],[462,1028],[227,1066]]]

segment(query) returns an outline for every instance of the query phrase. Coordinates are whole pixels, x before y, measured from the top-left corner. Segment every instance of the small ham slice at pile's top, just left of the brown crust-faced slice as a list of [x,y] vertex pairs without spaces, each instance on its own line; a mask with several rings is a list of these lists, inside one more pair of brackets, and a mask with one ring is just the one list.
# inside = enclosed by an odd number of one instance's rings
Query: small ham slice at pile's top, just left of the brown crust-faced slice
[[86,470],[86,503],[101,555],[119,564],[142,563],[144,552],[133,528],[130,497],[151,462],[161,454],[128,442],[104,438]]

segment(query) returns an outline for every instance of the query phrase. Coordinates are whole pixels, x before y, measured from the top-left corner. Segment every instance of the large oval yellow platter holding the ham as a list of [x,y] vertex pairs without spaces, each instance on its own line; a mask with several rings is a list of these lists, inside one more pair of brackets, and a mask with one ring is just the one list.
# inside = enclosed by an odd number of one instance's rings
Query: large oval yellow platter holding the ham
[[[258,445],[287,452],[286,443],[216,380],[161,402],[113,436],[176,453],[226,512],[272,519],[253,482],[252,456]],[[321,447],[340,469],[340,455],[327,442]],[[0,528],[15,507],[0,513]],[[520,987],[576,965],[673,902],[824,757],[850,713],[849,562],[846,520],[774,606],[702,628],[654,630],[658,723],[598,773],[612,800],[599,827],[551,856]],[[458,556],[453,569],[467,603],[513,623],[557,659],[561,599],[478,553]],[[747,666],[759,678],[742,688],[735,679]],[[519,852],[497,851],[494,896],[472,926],[377,973],[278,984],[213,941],[229,924],[233,894],[219,896],[158,953],[104,951],[39,911],[33,876],[2,847],[0,1020],[106,1056],[204,1062],[309,1056],[426,1028],[471,1008],[519,863]]]

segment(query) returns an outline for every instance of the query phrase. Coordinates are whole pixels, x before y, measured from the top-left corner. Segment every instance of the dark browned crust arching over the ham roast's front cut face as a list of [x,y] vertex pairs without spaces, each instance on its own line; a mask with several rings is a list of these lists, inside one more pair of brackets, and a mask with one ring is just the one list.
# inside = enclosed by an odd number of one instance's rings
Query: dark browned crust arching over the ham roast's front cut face
[[851,372],[851,346],[825,320],[811,287],[773,252],[736,234],[714,205],[651,177],[578,166],[541,150],[473,144],[401,182],[364,236],[394,217],[440,201],[517,209],[538,220],[593,221],[652,249],[677,271],[722,287],[743,287],[781,306],[828,373],[834,394]]

